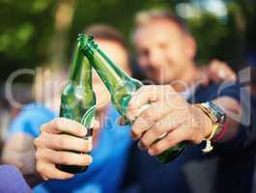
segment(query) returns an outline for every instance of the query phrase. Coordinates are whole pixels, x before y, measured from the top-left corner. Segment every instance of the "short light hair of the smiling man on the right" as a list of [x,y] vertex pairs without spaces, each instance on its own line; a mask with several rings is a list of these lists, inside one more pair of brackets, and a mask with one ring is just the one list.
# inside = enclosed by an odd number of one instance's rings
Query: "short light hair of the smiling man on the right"
[[135,16],[135,28],[148,24],[150,21],[156,20],[156,19],[169,20],[170,22],[175,23],[183,32],[189,34],[185,26],[185,20],[178,15],[171,14],[167,10],[153,9],[153,10],[139,12]]

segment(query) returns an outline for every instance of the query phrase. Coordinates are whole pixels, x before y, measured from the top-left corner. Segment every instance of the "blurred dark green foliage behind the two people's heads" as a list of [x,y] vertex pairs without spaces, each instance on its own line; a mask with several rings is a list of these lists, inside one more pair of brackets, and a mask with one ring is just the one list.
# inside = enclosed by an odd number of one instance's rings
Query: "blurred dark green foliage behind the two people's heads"
[[[56,9],[71,3],[72,20],[67,33],[56,31]],[[15,69],[36,68],[50,60],[60,49],[61,63],[71,58],[77,33],[92,23],[108,23],[117,27],[129,42],[134,14],[149,8],[165,8],[175,14],[175,6],[186,1],[167,0],[0,0],[0,81]],[[205,64],[213,58],[227,61],[234,69],[244,65],[245,53],[256,47],[256,6],[253,1],[226,1],[228,15],[219,17],[203,13],[186,19],[198,42],[197,61]],[[59,36],[61,39],[56,38]],[[55,37],[55,38],[54,38]],[[55,41],[64,41],[58,47]],[[23,78],[22,81],[30,81]]]

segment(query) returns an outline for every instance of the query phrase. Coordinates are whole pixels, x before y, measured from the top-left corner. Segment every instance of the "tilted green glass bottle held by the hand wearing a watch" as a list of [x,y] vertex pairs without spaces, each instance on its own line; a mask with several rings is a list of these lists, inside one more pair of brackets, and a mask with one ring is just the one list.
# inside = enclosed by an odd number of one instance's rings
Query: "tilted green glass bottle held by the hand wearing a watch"
[[[111,95],[113,105],[121,116],[126,118],[128,101],[132,94],[143,86],[143,84],[128,76],[123,69],[112,62],[95,43],[92,37],[86,35],[80,35],[80,37],[87,41],[84,49],[85,56],[99,73],[101,80]],[[156,157],[160,162],[168,163],[179,155],[180,152],[183,152],[185,147],[186,143],[180,143],[156,155]]]

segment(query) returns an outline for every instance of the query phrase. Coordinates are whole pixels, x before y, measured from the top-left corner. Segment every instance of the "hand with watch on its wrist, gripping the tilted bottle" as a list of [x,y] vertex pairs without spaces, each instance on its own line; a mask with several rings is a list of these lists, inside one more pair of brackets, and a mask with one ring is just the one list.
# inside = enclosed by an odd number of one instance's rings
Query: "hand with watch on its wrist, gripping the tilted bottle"
[[[140,112],[144,105],[150,106]],[[183,141],[199,144],[212,132],[212,122],[199,108],[169,86],[143,86],[128,103],[131,135],[150,154],[164,152]],[[160,139],[156,142],[157,139]]]

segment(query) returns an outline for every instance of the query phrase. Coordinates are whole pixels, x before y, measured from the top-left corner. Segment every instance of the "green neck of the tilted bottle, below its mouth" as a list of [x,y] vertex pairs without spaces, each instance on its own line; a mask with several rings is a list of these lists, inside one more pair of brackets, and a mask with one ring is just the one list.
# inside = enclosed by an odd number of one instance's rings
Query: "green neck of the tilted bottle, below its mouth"
[[110,93],[115,93],[125,82],[132,82],[133,79],[111,61],[94,41],[87,43],[85,55],[99,73]]

